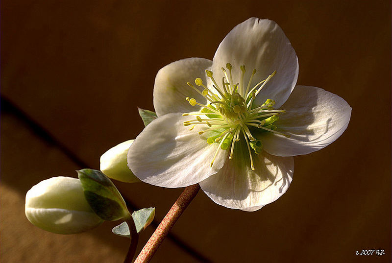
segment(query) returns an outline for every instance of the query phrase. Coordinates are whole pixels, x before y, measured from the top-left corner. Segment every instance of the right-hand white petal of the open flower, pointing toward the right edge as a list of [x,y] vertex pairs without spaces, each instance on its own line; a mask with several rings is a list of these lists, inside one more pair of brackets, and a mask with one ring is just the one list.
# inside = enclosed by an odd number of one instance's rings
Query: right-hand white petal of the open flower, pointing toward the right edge
[[287,112],[274,124],[291,138],[264,133],[264,149],[277,156],[308,154],[333,143],[347,128],[351,107],[333,93],[316,87],[296,86],[281,107]]

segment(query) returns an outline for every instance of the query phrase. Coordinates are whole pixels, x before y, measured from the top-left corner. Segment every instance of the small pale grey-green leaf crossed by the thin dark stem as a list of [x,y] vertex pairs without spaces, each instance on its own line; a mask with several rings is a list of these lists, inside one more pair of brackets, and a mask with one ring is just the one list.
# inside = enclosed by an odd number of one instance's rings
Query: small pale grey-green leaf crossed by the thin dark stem
[[[155,207],[144,208],[132,213],[132,219],[135,223],[136,231],[138,233],[142,232],[146,229],[146,227],[152,222],[155,216]],[[120,237],[129,238],[130,231],[129,226],[126,222],[121,223],[118,226],[115,226],[112,229],[112,232]]]

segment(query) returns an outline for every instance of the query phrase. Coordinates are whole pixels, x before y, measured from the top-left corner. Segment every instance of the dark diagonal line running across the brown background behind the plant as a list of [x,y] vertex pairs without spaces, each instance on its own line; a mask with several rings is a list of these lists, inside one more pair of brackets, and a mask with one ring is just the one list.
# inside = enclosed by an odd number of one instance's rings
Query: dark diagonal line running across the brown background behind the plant
[[[26,114],[23,110],[18,108],[15,104],[13,104],[9,99],[5,98],[4,96],[0,96],[0,112],[1,113],[8,113],[12,114],[15,116],[17,119],[23,121],[30,129],[31,131],[37,135],[39,138],[41,138],[43,141],[46,143],[51,144],[54,147],[57,147],[61,152],[63,152],[75,165],[77,165],[80,168],[85,168],[89,167],[87,163],[85,163],[83,160],[81,160],[76,154],[73,153],[72,150],[70,150],[66,145],[63,143],[60,143],[56,138],[49,133],[44,127],[42,127],[40,124],[32,120],[28,114]],[[124,198],[126,206],[128,207],[129,210],[131,211],[136,211],[141,209],[134,203],[132,203],[130,200]],[[157,228],[159,225],[159,222],[157,220],[153,220],[151,225],[154,228]],[[198,263],[211,263],[210,260],[205,258],[203,255],[201,255],[199,252],[197,252],[195,249],[193,249],[191,246],[187,245],[182,241],[180,238],[177,236],[173,235],[172,233],[169,232],[168,239],[171,239],[173,243],[175,243],[178,247],[186,251],[188,254],[190,254],[192,257],[194,257]]]

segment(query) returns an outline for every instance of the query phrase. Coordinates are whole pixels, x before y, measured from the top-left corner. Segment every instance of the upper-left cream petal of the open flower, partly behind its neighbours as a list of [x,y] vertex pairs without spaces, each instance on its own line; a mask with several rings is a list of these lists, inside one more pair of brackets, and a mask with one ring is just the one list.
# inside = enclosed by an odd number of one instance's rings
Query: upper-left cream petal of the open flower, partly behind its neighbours
[[201,78],[204,83],[205,70],[209,69],[212,61],[205,58],[181,59],[163,67],[155,77],[154,108],[157,116],[175,112],[198,111],[198,106],[191,106],[185,99],[193,97],[205,104],[206,99],[187,85],[192,83],[200,91],[202,87],[196,86],[195,79]]

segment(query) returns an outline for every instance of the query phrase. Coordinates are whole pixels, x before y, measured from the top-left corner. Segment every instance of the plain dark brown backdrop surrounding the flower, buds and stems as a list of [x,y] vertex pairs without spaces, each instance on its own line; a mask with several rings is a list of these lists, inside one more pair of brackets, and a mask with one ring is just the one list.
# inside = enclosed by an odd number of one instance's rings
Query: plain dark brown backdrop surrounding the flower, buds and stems
[[[333,144],[294,158],[294,180],[254,213],[202,191],[153,263],[391,262],[391,1],[1,1],[1,262],[123,261],[120,222],[61,236],[31,225],[25,192],[143,129],[156,72],[214,56],[249,17],[276,21],[299,59],[298,84],[342,96],[350,124]],[[148,158],[148,156],[146,156]],[[182,189],[116,182],[134,208],[156,207],[141,249]],[[356,256],[363,249],[384,255]]]

